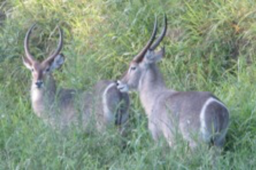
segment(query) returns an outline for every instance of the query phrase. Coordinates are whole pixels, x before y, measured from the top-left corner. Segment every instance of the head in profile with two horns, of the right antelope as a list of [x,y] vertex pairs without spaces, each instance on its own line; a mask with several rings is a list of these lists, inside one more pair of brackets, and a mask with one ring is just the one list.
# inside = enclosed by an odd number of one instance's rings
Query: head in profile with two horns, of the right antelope
[[167,19],[164,16],[164,27],[161,32],[161,35],[154,42],[155,36],[157,33],[157,18],[155,19],[154,29],[151,35],[150,40],[145,45],[145,47],[141,50],[141,52],[133,58],[130,62],[129,69],[126,71],[124,76],[120,81],[118,81],[118,88],[121,92],[127,92],[129,90],[137,90],[139,83],[150,67],[150,65],[155,64],[157,61],[161,60],[161,58],[165,54],[164,47],[161,50],[156,51],[155,49],[158,47],[160,42],[163,40],[167,30]]

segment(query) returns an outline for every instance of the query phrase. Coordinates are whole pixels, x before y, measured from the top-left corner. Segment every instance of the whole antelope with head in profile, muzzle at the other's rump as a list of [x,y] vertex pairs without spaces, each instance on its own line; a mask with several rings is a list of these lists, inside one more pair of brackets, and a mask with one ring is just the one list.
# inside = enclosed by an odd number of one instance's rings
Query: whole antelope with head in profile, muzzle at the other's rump
[[226,106],[210,92],[181,92],[165,85],[156,64],[165,55],[165,49],[155,49],[164,38],[166,29],[165,16],[161,35],[153,43],[157,32],[156,18],[150,40],[130,62],[129,69],[118,81],[118,88],[122,92],[138,91],[154,140],[163,135],[173,146],[178,132],[191,148],[201,141],[222,146],[229,124]]

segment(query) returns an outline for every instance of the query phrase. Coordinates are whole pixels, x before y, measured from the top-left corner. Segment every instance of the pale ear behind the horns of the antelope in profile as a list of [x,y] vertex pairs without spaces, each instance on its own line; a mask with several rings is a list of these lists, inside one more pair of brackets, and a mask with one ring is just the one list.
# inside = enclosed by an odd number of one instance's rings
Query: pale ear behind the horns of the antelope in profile
[[161,50],[159,50],[159,51],[148,50],[147,53],[145,54],[144,62],[146,64],[151,64],[151,63],[154,63],[154,62],[158,62],[163,58],[164,55],[165,55],[165,48],[164,47],[162,47]]

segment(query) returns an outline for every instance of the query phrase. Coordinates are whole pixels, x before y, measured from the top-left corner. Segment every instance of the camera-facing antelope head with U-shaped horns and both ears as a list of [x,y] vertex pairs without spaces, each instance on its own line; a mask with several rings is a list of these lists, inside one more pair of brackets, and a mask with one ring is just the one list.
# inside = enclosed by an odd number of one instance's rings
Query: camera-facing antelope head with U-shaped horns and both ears
[[29,37],[34,27],[35,24],[30,27],[24,40],[24,49],[26,56],[23,57],[23,63],[28,69],[30,69],[32,73],[33,86],[41,88],[44,85],[45,77],[50,74],[54,69],[61,67],[61,65],[64,63],[64,56],[60,54],[63,45],[63,35],[62,30],[58,27],[59,43],[57,49],[44,61],[39,62],[35,60],[35,58],[29,51]]

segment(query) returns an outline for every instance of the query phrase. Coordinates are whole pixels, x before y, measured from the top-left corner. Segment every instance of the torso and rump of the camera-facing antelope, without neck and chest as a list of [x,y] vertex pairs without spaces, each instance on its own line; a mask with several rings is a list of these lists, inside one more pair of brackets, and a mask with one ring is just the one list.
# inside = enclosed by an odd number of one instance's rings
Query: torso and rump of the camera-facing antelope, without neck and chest
[[57,98],[56,108],[61,110],[57,110],[59,114],[54,116],[53,121],[58,121],[61,127],[74,124],[90,131],[96,125],[100,130],[106,125],[121,124],[128,119],[128,94],[121,93],[111,80],[101,80],[87,92],[60,89]]

